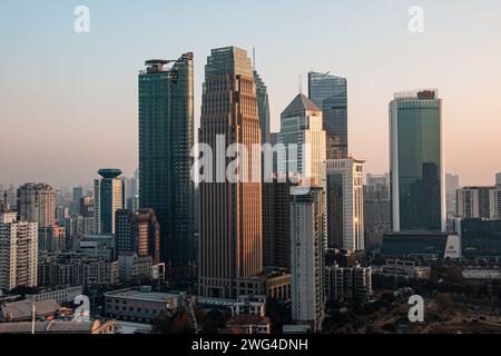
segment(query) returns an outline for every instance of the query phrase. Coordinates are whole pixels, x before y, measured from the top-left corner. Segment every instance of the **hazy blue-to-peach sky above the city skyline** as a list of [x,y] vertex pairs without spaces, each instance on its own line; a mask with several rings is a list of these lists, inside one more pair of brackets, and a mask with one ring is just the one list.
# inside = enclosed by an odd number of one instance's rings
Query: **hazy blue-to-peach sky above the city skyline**
[[[90,33],[73,10],[90,9]],[[407,30],[411,6],[425,31]],[[137,167],[137,72],[193,51],[196,112],[212,48],[257,51],[273,128],[308,70],[345,76],[350,150],[387,171],[387,105],[432,87],[444,100],[446,170],[501,171],[501,2],[495,0],[4,0],[0,7],[0,182],[88,184]]]

